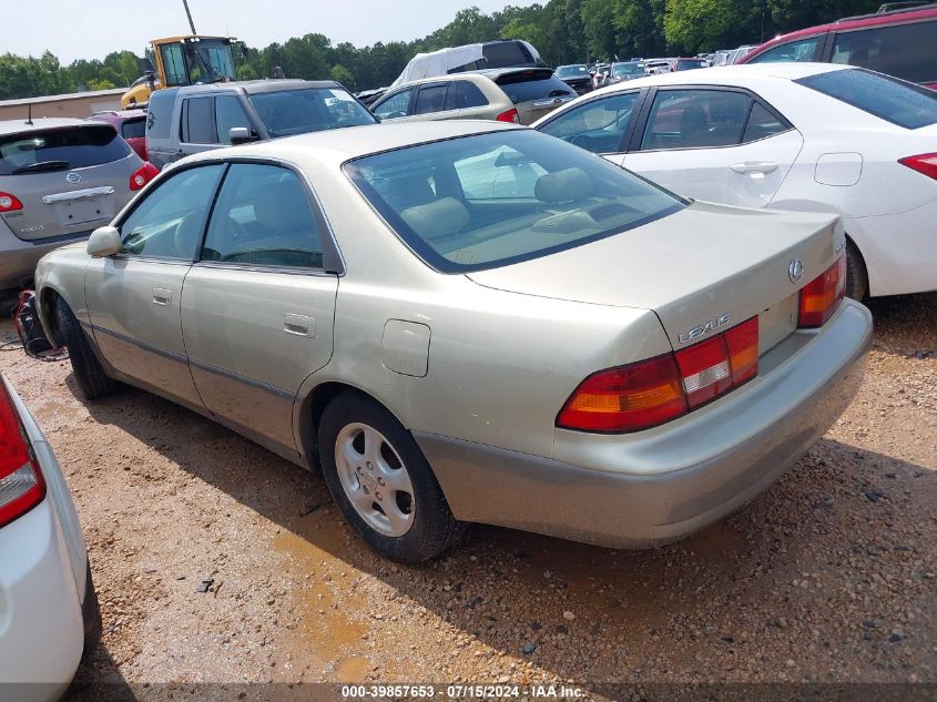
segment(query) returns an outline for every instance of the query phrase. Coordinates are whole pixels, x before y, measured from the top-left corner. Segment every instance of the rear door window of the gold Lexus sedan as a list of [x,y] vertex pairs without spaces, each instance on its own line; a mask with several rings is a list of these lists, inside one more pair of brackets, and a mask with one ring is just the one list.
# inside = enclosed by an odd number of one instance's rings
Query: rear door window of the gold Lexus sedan
[[233,164],[212,210],[202,261],[322,268],[322,230],[298,176],[274,165]]

